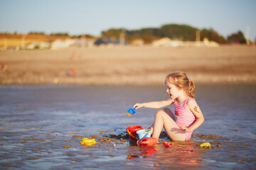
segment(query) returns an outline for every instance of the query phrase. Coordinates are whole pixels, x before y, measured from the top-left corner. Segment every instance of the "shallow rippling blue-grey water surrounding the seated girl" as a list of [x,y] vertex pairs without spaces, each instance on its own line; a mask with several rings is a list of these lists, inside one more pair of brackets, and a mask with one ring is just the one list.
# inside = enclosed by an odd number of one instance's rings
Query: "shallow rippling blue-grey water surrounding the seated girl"
[[[134,103],[167,98],[164,86],[0,86],[0,169],[255,169],[255,87],[196,86],[206,118],[198,135],[171,148],[161,135],[147,148],[119,138],[128,126],[148,128],[157,110],[125,113]],[[80,145],[91,135],[96,145]],[[100,142],[104,136],[116,141]],[[214,148],[198,147],[203,142]]]

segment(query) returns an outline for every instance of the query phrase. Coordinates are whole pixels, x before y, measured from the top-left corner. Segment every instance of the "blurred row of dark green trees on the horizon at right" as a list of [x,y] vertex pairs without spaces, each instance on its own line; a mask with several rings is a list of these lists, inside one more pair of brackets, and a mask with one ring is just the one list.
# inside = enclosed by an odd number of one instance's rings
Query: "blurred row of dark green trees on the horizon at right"
[[[131,42],[132,40],[137,38],[142,38],[146,43],[150,43],[153,40],[157,40],[159,38],[164,37],[171,39],[194,41],[196,40],[196,30],[197,28],[193,28],[188,25],[168,24],[161,26],[160,28],[142,28],[139,30],[112,28],[106,31],[102,31],[102,36],[106,38],[119,38],[120,33],[125,33],[125,39],[128,42]],[[203,40],[203,38],[208,38],[208,40],[213,40],[220,44],[224,44],[227,42],[246,42],[245,37],[241,31],[229,35],[227,39],[225,39],[222,35],[219,35],[217,31],[213,30],[213,28],[204,28],[200,31],[200,35],[201,40]]]

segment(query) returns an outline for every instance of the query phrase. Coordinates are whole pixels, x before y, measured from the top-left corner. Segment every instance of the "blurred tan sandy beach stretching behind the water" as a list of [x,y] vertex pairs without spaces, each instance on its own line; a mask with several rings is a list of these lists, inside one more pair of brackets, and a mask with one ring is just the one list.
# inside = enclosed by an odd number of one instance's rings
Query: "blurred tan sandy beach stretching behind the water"
[[92,47],[1,51],[0,84],[163,84],[184,71],[196,83],[255,83],[256,47]]

